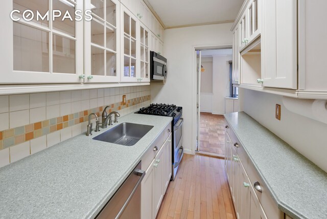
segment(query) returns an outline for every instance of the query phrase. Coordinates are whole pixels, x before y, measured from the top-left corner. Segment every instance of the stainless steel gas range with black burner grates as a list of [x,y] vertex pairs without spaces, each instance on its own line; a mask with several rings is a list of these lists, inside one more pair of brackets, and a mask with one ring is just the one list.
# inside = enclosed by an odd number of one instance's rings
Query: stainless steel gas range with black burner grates
[[172,121],[172,180],[175,179],[179,163],[182,160],[184,150],[182,146],[182,107],[173,104],[155,103],[148,107],[143,107],[137,111],[137,114],[155,115],[155,116],[170,116]]

